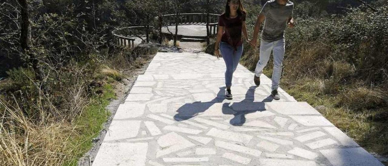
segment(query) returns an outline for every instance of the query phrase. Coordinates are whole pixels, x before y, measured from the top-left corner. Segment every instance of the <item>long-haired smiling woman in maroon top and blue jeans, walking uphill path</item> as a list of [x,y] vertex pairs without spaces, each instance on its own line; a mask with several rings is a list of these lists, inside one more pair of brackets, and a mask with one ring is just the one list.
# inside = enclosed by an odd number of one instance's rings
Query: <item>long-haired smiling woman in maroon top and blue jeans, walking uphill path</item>
[[217,41],[215,44],[214,55],[221,55],[226,64],[225,84],[226,99],[232,99],[230,86],[232,86],[233,72],[239,64],[242,54],[242,32],[244,38],[249,42],[245,25],[246,11],[242,6],[241,0],[227,0],[225,12],[221,14],[218,21]]

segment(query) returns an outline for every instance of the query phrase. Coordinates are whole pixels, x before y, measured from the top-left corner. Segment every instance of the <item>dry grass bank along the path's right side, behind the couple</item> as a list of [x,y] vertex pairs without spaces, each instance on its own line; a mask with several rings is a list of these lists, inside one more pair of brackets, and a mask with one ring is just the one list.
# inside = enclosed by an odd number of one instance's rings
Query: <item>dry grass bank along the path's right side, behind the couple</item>
[[[331,123],[369,152],[388,154],[388,91],[372,85],[363,71],[333,53],[325,42],[299,42],[286,50],[281,86],[298,101],[320,106]],[[241,64],[254,70],[258,50],[248,49]],[[263,73],[272,75],[272,59]]]

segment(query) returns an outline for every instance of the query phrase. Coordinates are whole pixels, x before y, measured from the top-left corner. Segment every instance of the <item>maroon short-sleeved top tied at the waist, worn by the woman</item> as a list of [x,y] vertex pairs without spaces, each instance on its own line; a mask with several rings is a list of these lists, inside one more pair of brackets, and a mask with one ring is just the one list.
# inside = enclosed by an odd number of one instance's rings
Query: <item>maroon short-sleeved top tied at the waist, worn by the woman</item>
[[236,18],[228,18],[225,13],[221,14],[218,20],[218,26],[223,26],[223,34],[221,41],[229,43],[234,50],[242,45],[242,22],[245,21],[245,14],[241,14]]

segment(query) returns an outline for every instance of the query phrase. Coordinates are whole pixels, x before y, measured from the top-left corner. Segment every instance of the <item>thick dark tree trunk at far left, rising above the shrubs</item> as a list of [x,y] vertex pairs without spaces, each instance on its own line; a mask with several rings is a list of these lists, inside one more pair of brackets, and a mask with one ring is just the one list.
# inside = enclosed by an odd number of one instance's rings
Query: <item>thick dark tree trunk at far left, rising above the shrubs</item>
[[38,69],[38,59],[31,54],[31,21],[29,20],[28,0],[19,0],[21,6],[21,32],[20,32],[20,46],[23,54],[29,56],[29,63],[35,72],[36,79],[41,80],[40,71]]

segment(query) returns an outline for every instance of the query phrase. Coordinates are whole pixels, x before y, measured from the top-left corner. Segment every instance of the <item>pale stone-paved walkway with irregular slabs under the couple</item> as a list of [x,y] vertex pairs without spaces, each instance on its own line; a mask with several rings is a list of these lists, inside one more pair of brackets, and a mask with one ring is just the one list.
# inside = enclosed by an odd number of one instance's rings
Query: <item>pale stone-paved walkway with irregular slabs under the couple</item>
[[158,53],[118,107],[93,166],[382,166],[305,102],[222,59]]

